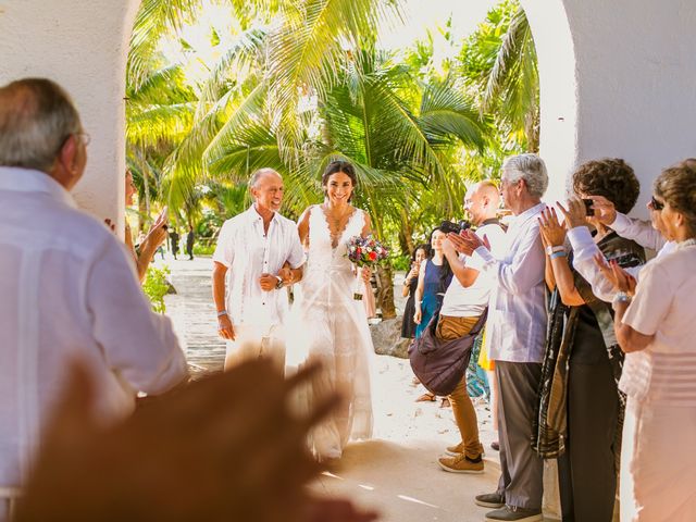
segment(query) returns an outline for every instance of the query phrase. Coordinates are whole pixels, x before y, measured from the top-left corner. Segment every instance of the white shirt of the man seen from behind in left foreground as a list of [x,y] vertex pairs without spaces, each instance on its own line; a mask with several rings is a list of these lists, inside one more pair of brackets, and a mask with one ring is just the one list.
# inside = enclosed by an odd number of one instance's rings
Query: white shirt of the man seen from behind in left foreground
[[91,371],[104,423],[133,411],[137,391],[166,391],[187,370],[124,245],[61,185],[0,167],[0,486],[17,486],[71,360]]

